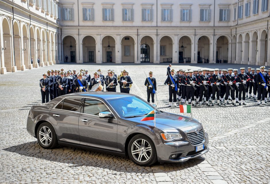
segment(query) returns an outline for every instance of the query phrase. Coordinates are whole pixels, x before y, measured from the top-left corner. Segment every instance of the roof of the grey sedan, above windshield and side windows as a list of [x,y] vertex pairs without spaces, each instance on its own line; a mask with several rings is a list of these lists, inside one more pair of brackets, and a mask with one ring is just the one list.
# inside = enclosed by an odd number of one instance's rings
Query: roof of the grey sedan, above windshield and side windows
[[80,92],[80,93],[71,93],[71,94],[68,94],[67,96],[73,96],[73,95],[82,96],[82,97],[95,97],[95,98],[101,98],[104,100],[123,98],[123,97],[128,97],[128,96],[136,96],[133,94],[119,93],[119,92]]

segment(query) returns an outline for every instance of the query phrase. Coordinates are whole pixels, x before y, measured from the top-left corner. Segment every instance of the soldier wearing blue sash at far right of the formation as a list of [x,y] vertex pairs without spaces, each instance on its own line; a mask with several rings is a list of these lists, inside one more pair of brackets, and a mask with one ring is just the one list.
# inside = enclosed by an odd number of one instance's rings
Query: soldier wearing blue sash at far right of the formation
[[267,84],[268,84],[268,77],[267,74],[264,73],[265,66],[260,67],[261,71],[256,76],[256,82],[258,85],[258,98],[257,98],[257,104],[260,105],[260,100],[262,98],[262,104],[265,104],[264,97],[265,92],[268,90]]

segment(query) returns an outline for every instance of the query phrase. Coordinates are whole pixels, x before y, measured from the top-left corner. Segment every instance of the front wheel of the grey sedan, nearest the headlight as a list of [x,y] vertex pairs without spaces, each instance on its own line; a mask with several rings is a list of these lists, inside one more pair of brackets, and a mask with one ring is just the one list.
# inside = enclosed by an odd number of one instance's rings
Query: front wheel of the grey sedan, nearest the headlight
[[128,156],[139,166],[150,166],[157,162],[157,151],[153,141],[144,134],[138,134],[128,143]]

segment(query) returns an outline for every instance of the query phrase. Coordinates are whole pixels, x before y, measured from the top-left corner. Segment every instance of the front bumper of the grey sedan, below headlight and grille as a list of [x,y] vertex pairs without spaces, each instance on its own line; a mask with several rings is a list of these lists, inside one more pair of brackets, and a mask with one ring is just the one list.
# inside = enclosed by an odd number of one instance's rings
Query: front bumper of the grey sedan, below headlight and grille
[[[153,142],[156,145],[158,162],[185,162],[209,151],[208,134],[202,143],[205,145],[205,149],[198,152],[195,152],[196,146],[191,145],[189,141],[163,142],[162,140],[153,140]],[[172,158],[173,154],[175,154],[175,158]]]

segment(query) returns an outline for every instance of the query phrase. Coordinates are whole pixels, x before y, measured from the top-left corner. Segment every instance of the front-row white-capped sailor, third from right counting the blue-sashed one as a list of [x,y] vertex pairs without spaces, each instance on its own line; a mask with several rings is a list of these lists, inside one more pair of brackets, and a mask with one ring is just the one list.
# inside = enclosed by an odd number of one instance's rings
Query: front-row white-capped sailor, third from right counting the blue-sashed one
[[[232,104],[235,106],[236,104],[234,103],[235,101],[235,89],[234,89],[234,84],[236,84],[236,77],[234,73],[232,73],[232,68],[228,69],[228,73],[225,75],[224,81],[226,81],[226,94],[225,94],[225,103],[224,106],[227,105],[228,97],[229,94],[231,94],[232,97]],[[230,87],[232,86],[232,88]]]

